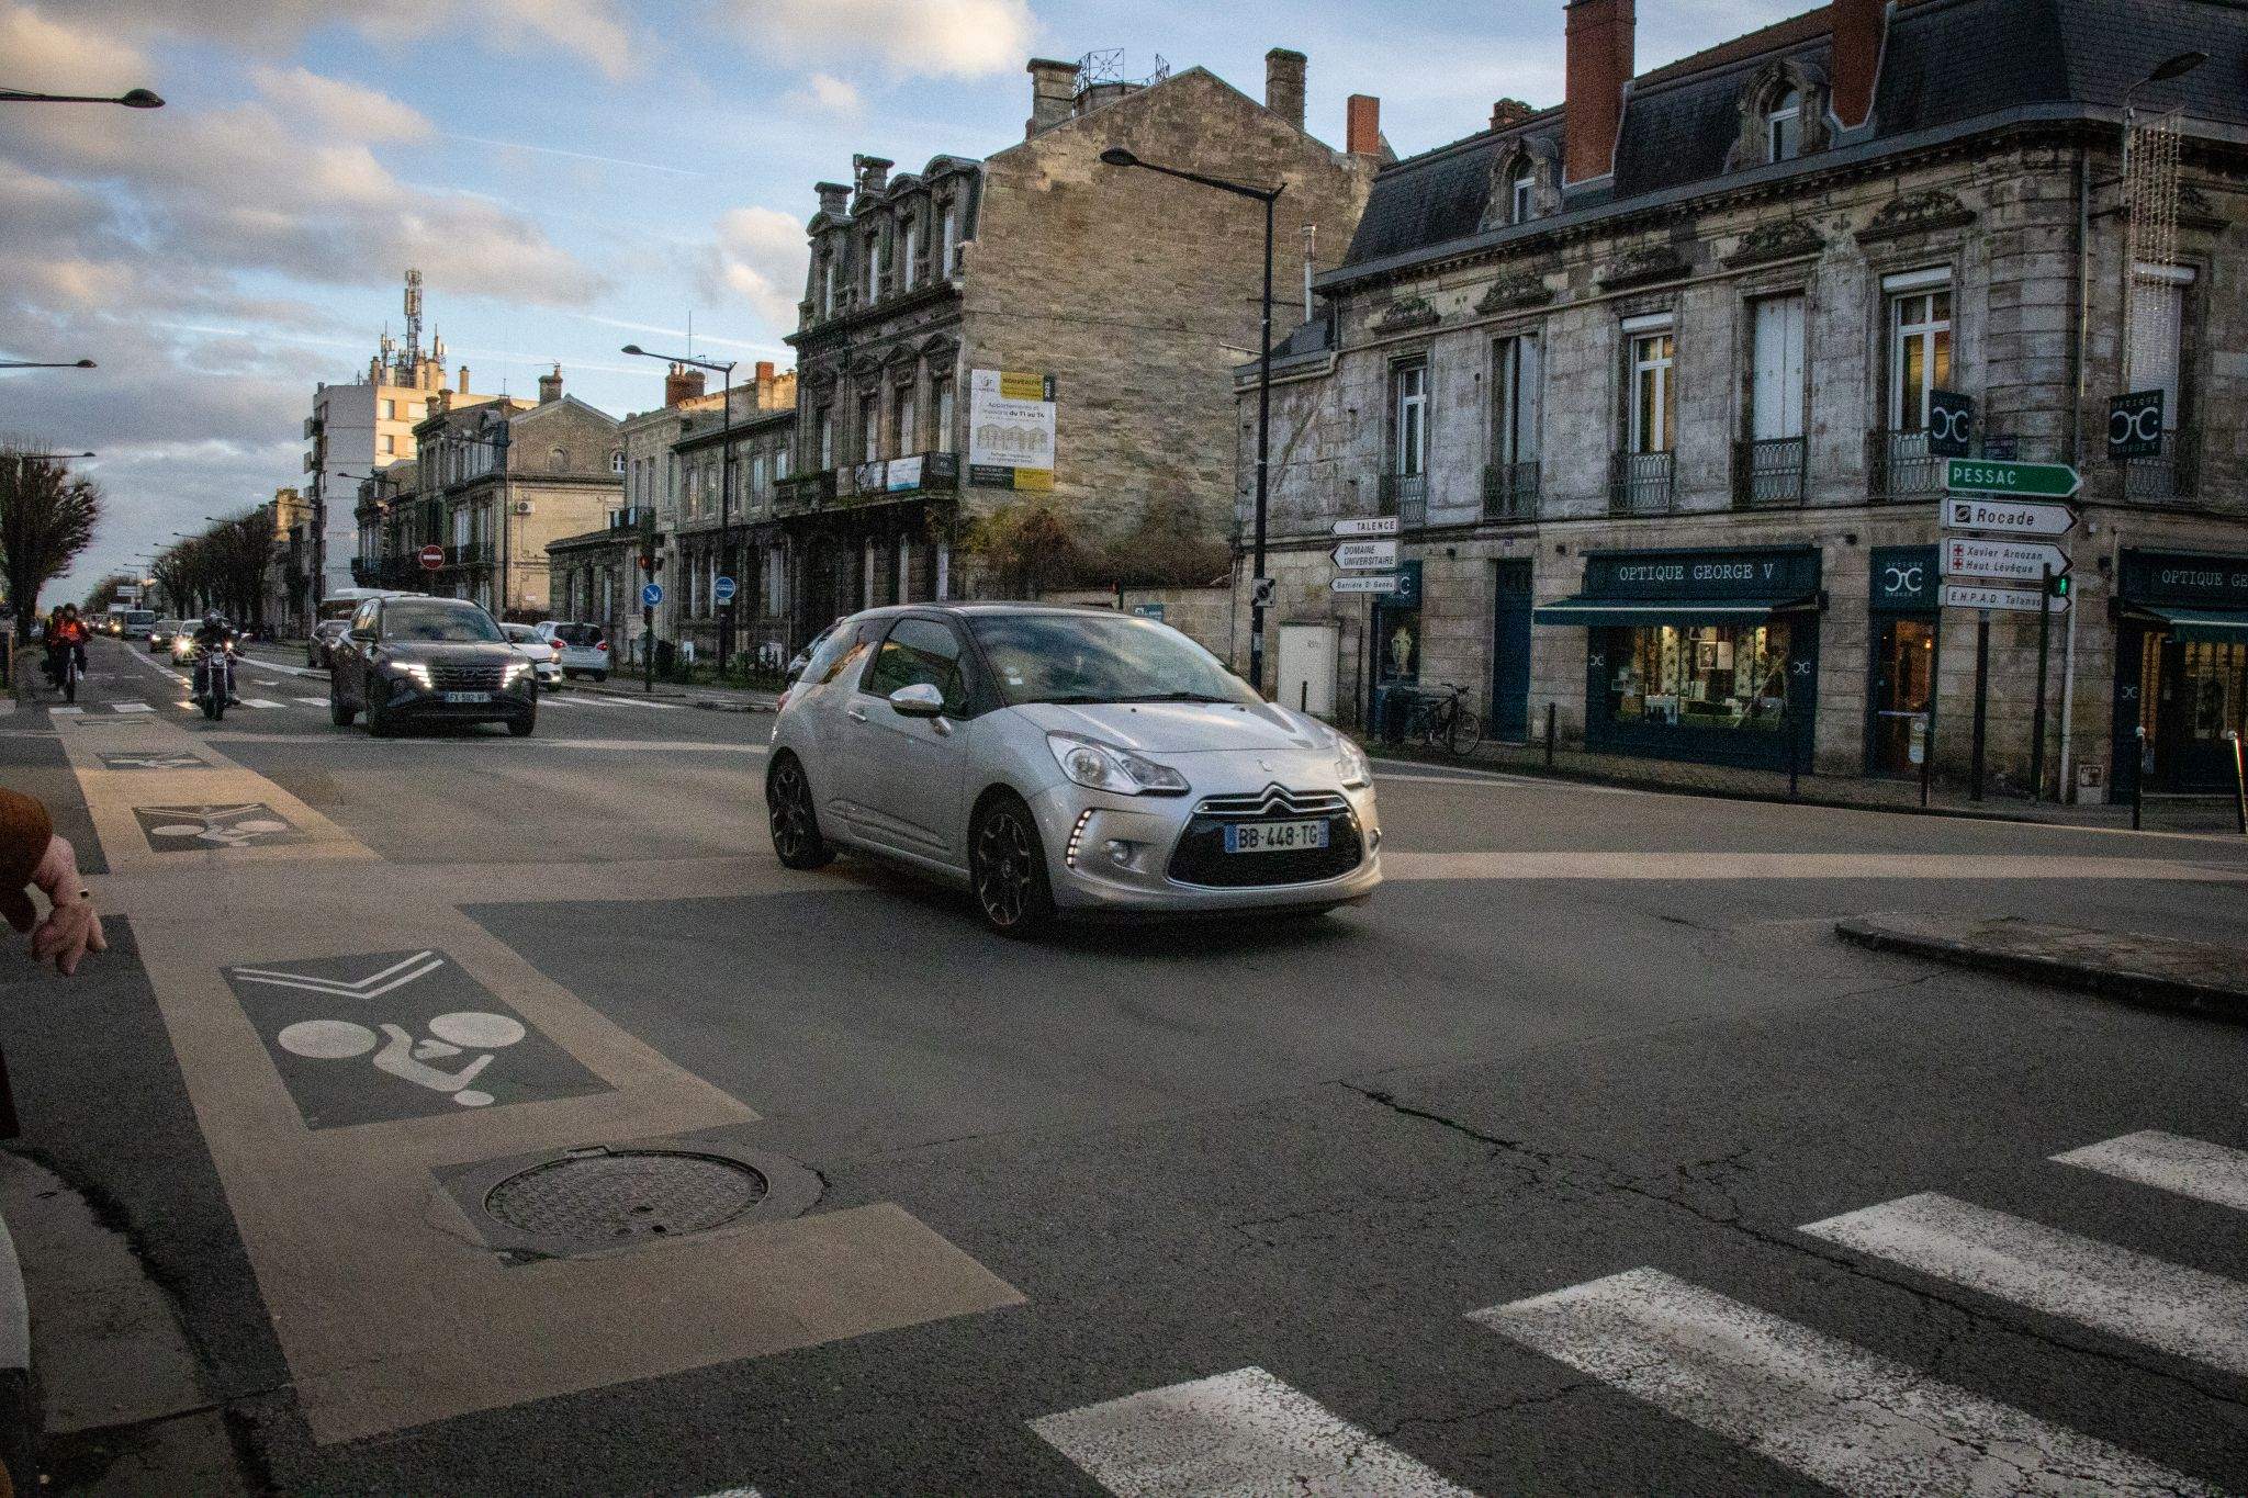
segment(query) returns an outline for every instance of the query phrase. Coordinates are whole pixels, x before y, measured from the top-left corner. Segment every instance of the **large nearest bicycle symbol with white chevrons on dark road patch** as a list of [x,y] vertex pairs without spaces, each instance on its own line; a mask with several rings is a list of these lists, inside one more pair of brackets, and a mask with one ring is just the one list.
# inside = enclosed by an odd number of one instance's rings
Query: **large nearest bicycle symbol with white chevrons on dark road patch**
[[225,970],[310,1127],[607,1091],[443,952]]

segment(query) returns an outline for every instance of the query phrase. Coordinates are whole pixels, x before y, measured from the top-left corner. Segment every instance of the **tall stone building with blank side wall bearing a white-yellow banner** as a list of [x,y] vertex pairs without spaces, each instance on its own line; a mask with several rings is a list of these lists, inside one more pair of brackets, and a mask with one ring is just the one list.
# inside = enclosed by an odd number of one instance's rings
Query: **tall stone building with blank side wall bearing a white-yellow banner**
[[[1304,56],[1268,56],[1263,103],[1194,67],[1122,81],[1104,54],[1032,61],[1025,139],[890,175],[854,157],[818,186],[800,326],[794,474],[753,508],[767,606],[800,645],[865,604],[973,584],[973,523],[1052,505],[1099,566],[1133,537],[1230,526],[1227,377],[1257,346],[1254,202],[1142,159],[1281,184],[1275,263],[1293,299],[1340,261],[1380,155],[1376,103],[1349,150],[1304,128]],[[1306,234],[1308,231],[1308,234]],[[973,550],[973,546],[969,546]]]

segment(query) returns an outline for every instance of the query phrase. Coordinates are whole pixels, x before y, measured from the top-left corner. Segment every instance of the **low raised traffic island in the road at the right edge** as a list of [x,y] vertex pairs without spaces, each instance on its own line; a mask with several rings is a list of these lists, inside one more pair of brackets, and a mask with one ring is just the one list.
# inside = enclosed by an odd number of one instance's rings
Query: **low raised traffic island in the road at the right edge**
[[1879,952],[2248,1020],[2248,952],[2208,941],[1931,914],[1852,916],[1837,921],[1834,934]]

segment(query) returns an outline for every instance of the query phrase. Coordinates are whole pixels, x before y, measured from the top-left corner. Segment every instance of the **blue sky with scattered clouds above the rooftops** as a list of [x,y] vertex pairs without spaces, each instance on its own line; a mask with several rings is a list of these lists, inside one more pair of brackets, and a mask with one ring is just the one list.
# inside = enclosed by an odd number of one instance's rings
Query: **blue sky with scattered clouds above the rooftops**
[[[1801,9],[1646,0],[1639,67]],[[339,20],[342,18],[342,20]],[[474,389],[560,362],[614,413],[618,348],[789,364],[812,184],[1021,139],[1030,56],[1122,47],[1250,94],[1311,56],[1308,126],[1383,99],[1401,153],[1560,99],[1560,0],[0,0],[0,440],[94,449],[110,519],[52,597],[301,476],[312,384],[364,371],[400,278]]]

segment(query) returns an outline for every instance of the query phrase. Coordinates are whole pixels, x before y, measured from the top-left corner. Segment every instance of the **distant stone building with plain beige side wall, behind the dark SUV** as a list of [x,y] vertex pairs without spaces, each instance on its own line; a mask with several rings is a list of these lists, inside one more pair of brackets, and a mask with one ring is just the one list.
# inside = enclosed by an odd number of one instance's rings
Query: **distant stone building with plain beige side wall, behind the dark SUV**
[[607,523],[623,494],[618,422],[540,375],[535,402],[461,389],[414,429],[416,532],[445,548],[429,593],[470,597],[504,620],[544,620],[546,546]]

